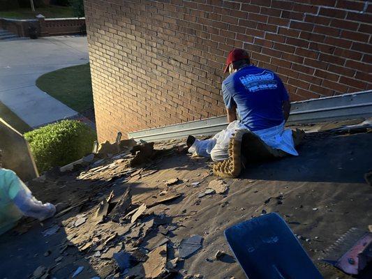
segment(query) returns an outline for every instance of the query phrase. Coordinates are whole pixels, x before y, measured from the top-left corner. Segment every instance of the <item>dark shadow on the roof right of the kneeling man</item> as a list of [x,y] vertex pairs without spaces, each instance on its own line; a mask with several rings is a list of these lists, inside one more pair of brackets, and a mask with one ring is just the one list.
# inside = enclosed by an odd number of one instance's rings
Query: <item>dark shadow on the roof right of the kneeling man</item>
[[248,165],[239,178],[270,181],[365,183],[372,168],[372,134],[308,135],[290,156],[260,165]]

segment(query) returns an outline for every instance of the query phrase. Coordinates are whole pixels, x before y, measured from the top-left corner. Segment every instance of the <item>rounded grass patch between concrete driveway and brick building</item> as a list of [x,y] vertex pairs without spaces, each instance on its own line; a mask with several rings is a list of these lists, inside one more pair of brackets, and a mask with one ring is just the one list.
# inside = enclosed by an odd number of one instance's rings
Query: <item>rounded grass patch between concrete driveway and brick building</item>
[[77,112],[93,107],[89,63],[46,73],[36,86]]

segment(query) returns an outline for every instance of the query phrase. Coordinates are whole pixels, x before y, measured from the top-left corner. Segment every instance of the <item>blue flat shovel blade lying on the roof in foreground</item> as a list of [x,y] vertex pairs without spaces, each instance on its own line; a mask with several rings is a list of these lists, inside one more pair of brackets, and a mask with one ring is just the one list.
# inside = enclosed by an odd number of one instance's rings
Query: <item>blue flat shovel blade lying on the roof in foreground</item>
[[269,213],[225,230],[249,279],[320,279],[322,275],[283,218]]

